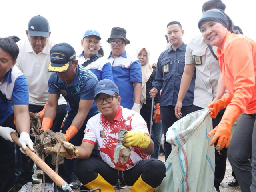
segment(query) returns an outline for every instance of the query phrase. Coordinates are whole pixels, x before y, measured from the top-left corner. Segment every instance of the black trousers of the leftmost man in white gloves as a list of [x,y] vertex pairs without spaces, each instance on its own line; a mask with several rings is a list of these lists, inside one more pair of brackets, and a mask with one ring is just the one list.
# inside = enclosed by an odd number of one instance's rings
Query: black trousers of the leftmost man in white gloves
[[[13,124],[14,115],[10,115],[0,126],[16,130]],[[14,143],[6,141],[0,136],[0,192],[7,192],[14,185]]]

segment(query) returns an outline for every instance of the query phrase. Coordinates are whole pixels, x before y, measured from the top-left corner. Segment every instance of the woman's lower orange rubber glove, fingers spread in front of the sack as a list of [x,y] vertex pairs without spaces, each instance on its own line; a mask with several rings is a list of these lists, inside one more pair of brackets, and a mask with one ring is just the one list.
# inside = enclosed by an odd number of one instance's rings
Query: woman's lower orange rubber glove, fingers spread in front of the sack
[[231,139],[231,128],[234,122],[238,119],[238,117],[242,114],[242,111],[235,105],[228,105],[224,115],[218,124],[210,133],[208,133],[208,137],[211,137],[212,135],[212,141],[210,145],[212,146],[217,139],[220,148],[217,148],[217,150],[222,150],[224,147],[228,147]]

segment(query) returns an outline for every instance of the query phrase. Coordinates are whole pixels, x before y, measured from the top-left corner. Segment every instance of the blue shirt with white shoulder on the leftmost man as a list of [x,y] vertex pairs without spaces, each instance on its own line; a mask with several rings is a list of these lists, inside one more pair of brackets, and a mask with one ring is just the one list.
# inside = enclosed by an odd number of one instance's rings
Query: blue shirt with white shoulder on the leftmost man
[[14,66],[0,82],[0,126],[13,114],[12,105],[28,105],[28,83]]

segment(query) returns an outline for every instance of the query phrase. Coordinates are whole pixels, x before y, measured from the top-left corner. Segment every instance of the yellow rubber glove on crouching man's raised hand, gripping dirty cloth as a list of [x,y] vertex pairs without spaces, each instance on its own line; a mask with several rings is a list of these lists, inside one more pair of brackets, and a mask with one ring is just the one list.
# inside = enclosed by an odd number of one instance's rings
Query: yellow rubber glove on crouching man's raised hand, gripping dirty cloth
[[123,145],[126,147],[138,145],[140,148],[145,149],[150,144],[150,137],[142,132],[132,130],[128,131],[124,136],[124,141]]

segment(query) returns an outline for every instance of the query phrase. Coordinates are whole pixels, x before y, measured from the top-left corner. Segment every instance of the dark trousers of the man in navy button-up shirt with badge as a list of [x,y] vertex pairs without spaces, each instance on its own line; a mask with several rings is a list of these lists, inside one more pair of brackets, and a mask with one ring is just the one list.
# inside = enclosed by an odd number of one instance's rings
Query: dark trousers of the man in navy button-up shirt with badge
[[[174,108],[175,106],[169,105],[164,106],[160,108],[161,111],[161,118],[162,118],[162,124],[163,124],[163,131],[164,131],[164,156],[165,160],[168,158],[170,153],[172,152],[172,145],[168,142],[166,142],[166,132],[168,131],[168,128],[174,124],[178,120],[174,114]],[[182,106],[181,113],[182,117],[186,116],[189,113],[193,112],[193,105],[190,106]]]

